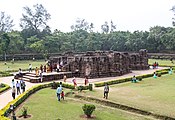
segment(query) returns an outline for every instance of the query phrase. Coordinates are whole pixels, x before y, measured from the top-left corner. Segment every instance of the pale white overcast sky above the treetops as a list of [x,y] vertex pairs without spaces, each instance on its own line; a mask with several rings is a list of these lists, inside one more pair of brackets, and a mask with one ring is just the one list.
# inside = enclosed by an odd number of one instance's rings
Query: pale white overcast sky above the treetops
[[43,4],[51,14],[52,30],[71,31],[77,18],[84,18],[99,32],[100,26],[113,20],[117,30],[149,30],[160,25],[172,26],[175,0],[0,0],[0,11],[14,19],[14,29],[19,29],[23,7]]

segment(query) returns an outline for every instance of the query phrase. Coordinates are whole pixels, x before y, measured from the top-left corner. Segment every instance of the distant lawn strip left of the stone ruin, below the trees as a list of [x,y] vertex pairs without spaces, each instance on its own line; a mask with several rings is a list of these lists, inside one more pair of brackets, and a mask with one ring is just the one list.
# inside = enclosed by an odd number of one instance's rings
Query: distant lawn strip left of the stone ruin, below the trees
[[10,61],[6,62],[7,64],[5,65],[3,61],[0,61],[0,71],[8,71],[8,70],[19,70],[19,68],[23,69],[28,69],[29,64],[32,64],[32,67],[39,67],[41,64],[45,64],[44,60],[22,60],[22,61],[15,61],[14,64],[12,64]]

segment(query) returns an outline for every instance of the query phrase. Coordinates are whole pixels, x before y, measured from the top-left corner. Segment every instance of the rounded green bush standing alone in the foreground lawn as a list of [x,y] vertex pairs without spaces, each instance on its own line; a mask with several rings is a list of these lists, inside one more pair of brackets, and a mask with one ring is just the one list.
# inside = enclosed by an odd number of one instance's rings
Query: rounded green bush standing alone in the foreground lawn
[[82,107],[84,114],[87,115],[87,117],[91,117],[92,112],[95,110],[95,105],[92,104],[84,104]]

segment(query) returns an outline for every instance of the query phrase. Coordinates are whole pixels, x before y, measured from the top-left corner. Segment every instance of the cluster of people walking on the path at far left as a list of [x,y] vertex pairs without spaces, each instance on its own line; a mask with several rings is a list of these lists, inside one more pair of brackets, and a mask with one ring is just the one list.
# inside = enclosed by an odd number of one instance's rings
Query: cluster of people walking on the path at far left
[[16,94],[21,94],[22,92],[25,92],[26,84],[24,80],[16,81],[12,79],[12,97],[15,99]]

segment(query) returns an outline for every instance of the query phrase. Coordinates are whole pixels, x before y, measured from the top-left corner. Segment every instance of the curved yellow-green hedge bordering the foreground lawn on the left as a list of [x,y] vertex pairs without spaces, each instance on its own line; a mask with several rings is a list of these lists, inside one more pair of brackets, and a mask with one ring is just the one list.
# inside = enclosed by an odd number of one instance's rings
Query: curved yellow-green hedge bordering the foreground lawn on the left
[[[56,83],[59,84],[59,83]],[[47,83],[47,84],[42,84],[42,85],[36,85],[30,89],[28,89],[27,91],[25,91],[24,93],[20,94],[15,100],[9,102],[3,109],[0,110],[0,120],[10,120],[9,118],[5,117],[8,116],[8,113],[11,112],[11,110],[9,109],[10,105],[13,104],[14,106],[19,106],[24,100],[26,100],[31,94],[35,93],[36,91],[43,89],[43,88],[47,88],[47,87],[51,87],[52,83]],[[63,87],[65,88],[69,88],[69,89],[74,89],[73,85],[70,84],[62,84]]]

